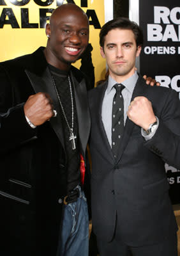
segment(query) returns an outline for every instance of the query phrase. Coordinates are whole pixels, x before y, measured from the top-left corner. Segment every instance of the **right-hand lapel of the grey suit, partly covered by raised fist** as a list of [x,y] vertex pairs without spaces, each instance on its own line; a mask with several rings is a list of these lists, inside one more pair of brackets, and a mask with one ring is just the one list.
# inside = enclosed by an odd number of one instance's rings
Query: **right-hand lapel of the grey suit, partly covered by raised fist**
[[[144,79],[141,76],[139,76],[139,79],[137,80],[137,83],[135,85],[135,89],[133,90],[131,101],[137,96],[147,97],[146,90],[145,90],[146,86],[143,86],[144,83],[145,83]],[[123,132],[123,138],[118,150],[117,162],[121,160],[124,149],[126,148],[126,145],[128,145],[128,140],[130,139],[131,132],[133,131],[134,125],[135,124],[127,117],[126,124],[124,127],[124,132]]]

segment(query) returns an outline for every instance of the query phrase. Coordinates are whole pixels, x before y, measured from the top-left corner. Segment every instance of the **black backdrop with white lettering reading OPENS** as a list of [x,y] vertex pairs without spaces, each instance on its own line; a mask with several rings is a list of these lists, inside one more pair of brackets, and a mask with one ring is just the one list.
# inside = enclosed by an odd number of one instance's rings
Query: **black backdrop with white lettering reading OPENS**
[[[180,2],[130,0],[130,19],[139,23],[144,33],[144,47],[137,62],[140,74],[155,77],[161,86],[176,90],[180,99]],[[180,170],[168,164],[165,168],[170,198],[172,204],[177,204]]]

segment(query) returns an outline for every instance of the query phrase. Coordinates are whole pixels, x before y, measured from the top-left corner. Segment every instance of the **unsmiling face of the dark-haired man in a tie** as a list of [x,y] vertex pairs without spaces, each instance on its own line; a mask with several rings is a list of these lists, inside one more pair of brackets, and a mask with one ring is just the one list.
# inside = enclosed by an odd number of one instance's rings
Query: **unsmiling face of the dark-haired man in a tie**
[[141,47],[137,47],[135,36],[130,29],[112,29],[105,36],[100,49],[101,56],[106,58],[110,76],[121,83],[135,72],[135,59]]

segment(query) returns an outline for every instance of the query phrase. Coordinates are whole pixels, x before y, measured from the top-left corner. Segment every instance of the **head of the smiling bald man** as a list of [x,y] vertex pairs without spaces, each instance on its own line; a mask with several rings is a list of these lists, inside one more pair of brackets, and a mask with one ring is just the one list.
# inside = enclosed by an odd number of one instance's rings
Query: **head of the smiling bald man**
[[47,62],[68,70],[79,59],[89,40],[89,22],[75,4],[64,4],[52,14],[46,33],[49,36],[45,56]]

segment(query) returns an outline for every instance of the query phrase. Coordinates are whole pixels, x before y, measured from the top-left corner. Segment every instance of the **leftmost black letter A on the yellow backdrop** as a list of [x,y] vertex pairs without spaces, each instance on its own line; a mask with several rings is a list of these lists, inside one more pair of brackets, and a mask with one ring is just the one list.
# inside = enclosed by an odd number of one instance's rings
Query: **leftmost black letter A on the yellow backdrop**
[[[8,17],[8,20],[6,20]],[[0,28],[3,28],[4,24],[10,24],[12,28],[20,28],[11,8],[3,8],[0,17]]]

